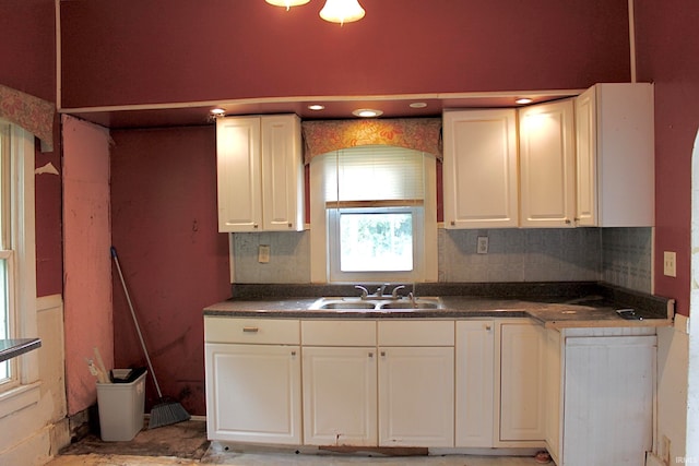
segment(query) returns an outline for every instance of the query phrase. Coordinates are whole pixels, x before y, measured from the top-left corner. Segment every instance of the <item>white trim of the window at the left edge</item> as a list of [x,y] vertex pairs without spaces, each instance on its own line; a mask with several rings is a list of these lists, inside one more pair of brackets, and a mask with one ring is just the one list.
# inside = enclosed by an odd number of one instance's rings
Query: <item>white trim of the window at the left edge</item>
[[[12,249],[15,251],[14,303],[15,337],[38,335],[36,315],[36,235],[34,213],[34,135],[16,124],[11,126]],[[19,385],[0,393],[0,417],[38,402],[39,371],[37,351],[17,358]]]

